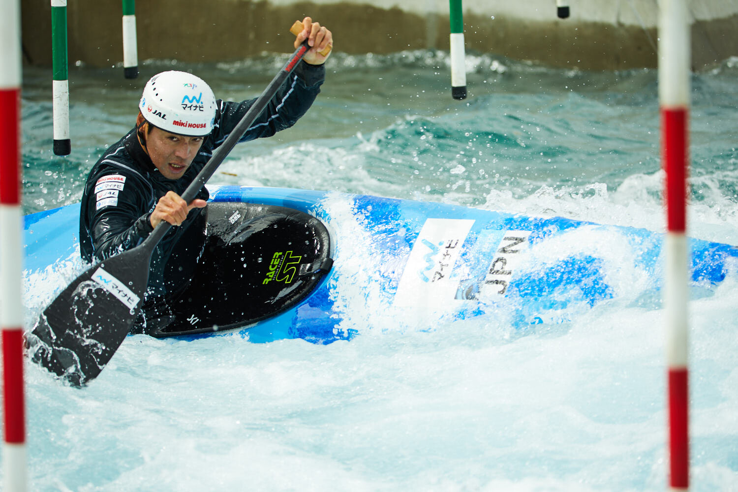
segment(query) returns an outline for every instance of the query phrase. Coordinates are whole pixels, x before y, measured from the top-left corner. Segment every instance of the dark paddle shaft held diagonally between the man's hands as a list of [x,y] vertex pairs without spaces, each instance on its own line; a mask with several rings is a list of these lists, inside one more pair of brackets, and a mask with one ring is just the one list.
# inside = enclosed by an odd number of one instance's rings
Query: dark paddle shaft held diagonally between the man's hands
[[[221,165],[226,156],[235,147],[238,140],[244,136],[249,127],[259,117],[264,108],[266,108],[266,105],[270,100],[272,100],[272,97],[277,93],[277,90],[292,73],[294,67],[297,66],[297,63],[300,63],[300,60],[303,59],[303,56],[308,52],[308,49],[310,49],[310,46],[308,46],[308,40],[305,40],[303,41],[303,44],[294,50],[294,53],[292,53],[289,60],[287,60],[282,69],[280,69],[279,73],[275,75],[272,82],[269,83],[269,86],[266,86],[266,89],[261,93],[261,96],[259,96],[251,105],[249,110],[246,111],[244,117],[241,118],[238,125],[235,125],[235,128],[233,128],[233,131],[231,131],[227,136],[223,144],[215,149],[213,156],[210,157],[210,160],[205,164],[205,167],[203,167],[198,175],[195,176],[195,179],[193,179],[190,186],[187,187],[187,190],[184,190],[184,193],[182,193],[182,199],[187,202],[187,204],[189,204],[190,201],[193,201],[207,180],[210,179],[210,176],[213,176],[215,170],[218,169],[218,166]],[[145,247],[153,252],[154,248],[159,241],[162,240],[171,225],[172,224],[169,224],[166,221],[161,221],[159,224],[156,224],[154,231],[148,235],[148,238],[146,238],[142,246],[145,244]]]

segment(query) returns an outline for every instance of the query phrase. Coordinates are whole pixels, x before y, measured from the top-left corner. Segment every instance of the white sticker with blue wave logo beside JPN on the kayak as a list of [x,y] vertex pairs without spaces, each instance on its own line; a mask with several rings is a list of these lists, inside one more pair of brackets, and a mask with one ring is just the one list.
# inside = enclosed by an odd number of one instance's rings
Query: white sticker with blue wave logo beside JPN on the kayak
[[472,219],[429,218],[415,240],[395,294],[395,304],[436,305],[454,299],[458,280],[452,280]]

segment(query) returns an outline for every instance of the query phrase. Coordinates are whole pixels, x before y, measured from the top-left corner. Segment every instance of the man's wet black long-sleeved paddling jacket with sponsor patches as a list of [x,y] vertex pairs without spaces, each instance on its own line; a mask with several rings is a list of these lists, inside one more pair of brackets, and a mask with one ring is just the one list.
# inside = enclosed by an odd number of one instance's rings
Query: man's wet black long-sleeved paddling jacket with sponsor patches
[[[294,125],[312,105],[324,78],[323,65],[301,62],[239,142],[272,136]],[[166,179],[159,173],[141,148],[136,128],[111,145],[92,167],[82,196],[83,259],[102,261],[139,245],[153,230],[149,217],[159,198],[169,190],[178,195],[184,193],[254,101],[216,102],[213,133],[204,139],[198,155],[180,179]],[[208,196],[203,187],[197,198]],[[152,257],[147,297],[172,294],[189,282],[202,253],[204,223],[204,209],[193,209],[182,226],[170,228]]]

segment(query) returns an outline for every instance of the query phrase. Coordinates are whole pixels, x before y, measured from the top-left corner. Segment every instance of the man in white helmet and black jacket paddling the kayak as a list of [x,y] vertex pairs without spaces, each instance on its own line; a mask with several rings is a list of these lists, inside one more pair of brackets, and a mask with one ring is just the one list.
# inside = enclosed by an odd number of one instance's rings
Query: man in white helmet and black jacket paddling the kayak
[[[333,36],[306,17],[294,47],[306,39],[311,49],[239,142],[291,127],[312,105],[325,80],[328,55],[320,51],[333,44]],[[139,101],[136,126],[92,167],[80,209],[83,260],[102,261],[139,245],[160,221],[176,226],[154,252],[133,331],[172,321],[170,305],[187,288],[204,251],[209,197],[204,187],[190,204],[180,195],[254,101],[216,100],[204,80],[187,72],[154,75]]]

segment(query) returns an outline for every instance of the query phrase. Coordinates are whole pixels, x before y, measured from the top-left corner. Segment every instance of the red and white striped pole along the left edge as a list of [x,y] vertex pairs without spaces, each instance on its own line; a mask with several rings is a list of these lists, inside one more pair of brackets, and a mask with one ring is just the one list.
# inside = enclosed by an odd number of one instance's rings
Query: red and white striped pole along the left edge
[[21,297],[21,1],[0,0],[0,325],[3,359],[3,491],[26,490]]

